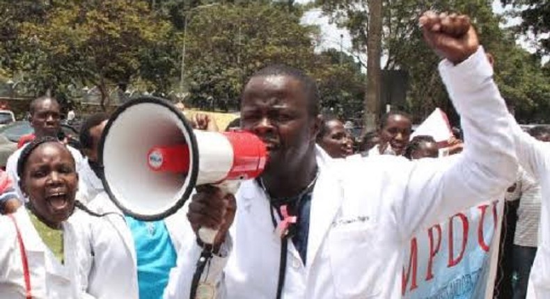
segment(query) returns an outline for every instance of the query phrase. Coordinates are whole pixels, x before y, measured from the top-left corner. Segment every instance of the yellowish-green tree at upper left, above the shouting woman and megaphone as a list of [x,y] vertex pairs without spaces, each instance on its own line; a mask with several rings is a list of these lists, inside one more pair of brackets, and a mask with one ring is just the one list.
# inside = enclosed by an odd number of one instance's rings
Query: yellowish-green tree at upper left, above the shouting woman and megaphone
[[17,25],[18,71],[31,89],[62,98],[71,87],[97,86],[104,108],[111,90],[138,79],[167,88],[177,60],[171,29],[145,1],[52,1],[45,17]]

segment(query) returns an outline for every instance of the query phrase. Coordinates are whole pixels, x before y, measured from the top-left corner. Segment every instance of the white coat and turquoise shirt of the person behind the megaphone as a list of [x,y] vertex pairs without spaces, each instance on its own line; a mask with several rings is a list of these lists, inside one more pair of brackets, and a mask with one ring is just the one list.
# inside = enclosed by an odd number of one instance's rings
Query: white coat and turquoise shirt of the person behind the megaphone
[[[192,231],[187,231],[183,227],[189,226],[187,218],[182,211],[169,216],[168,218],[157,221],[154,223],[143,222],[143,226],[153,232],[155,236],[159,234],[159,226],[163,226],[166,230],[169,240],[164,240],[162,247],[166,249],[168,246],[166,243],[170,243],[169,246],[173,248],[173,260],[167,260],[159,252],[162,252],[162,248],[149,247],[150,254],[154,254],[154,257],[146,259],[143,254],[146,254],[144,250],[139,250],[140,241],[136,241],[136,238],[147,238],[147,236],[136,235],[132,231],[132,223],[129,223],[127,216],[124,215],[118,207],[111,202],[109,195],[102,192],[98,194],[89,204],[88,208],[95,213],[105,215],[104,218],[111,225],[113,232],[116,232],[118,238],[116,244],[104,244],[105,249],[102,252],[95,254],[95,259],[98,259],[98,264],[101,264],[101,268],[93,270],[88,285],[88,292],[92,293],[97,298],[162,298],[162,293],[166,286],[171,283],[175,283],[173,278],[175,273],[175,265],[178,264],[178,259],[181,255],[178,254],[183,248],[187,239],[195,239],[195,235]],[[137,221],[137,220],[134,220]],[[134,223],[135,225],[135,223]],[[158,239],[155,239],[158,240]],[[138,242],[138,243],[136,243]],[[107,248],[107,246],[109,246]],[[110,264],[113,259],[118,259],[120,256],[129,257],[125,261],[123,267],[116,264]],[[148,266],[149,265],[149,266]],[[156,272],[156,277],[159,279],[150,280],[152,271]],[[109,273],[105,275],[104,273]],[[109,284],[113,277],[120,277],[121,275],[128,275],[131,285],[129,288],[123,290],[120,288],[109,289],[106,288],[106,284]],[[146,283],[146,286],[140,286],[140,284]]]

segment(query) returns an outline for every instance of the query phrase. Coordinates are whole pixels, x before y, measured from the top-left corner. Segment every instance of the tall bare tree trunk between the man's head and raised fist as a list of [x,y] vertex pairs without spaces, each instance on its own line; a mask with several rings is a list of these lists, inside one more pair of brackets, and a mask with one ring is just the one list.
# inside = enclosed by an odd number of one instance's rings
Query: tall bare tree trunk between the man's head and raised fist
[[377,129],[380,115],[380,57],[382,55],[382,0],[368,1],[367,92],[365,93],[364,130]]

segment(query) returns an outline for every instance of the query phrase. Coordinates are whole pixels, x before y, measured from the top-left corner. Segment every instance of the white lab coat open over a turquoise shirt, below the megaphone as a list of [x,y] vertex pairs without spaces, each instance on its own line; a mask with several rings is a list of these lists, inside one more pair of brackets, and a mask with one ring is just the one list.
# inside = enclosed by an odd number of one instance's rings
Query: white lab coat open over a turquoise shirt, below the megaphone
[[[97,197],[91,200],[88,208],[100,214],[109,213],[104,218],[111,225],[113,232],[116,232],[118,235],[116,241],[113,241],[113,243],[104,242],[102,250],[95,252],[98,266],[92,270],[90,275],[88,293],[93,294],[97,298],[105,299],[139,298],[136,249],[132,232],[127,227],[124,214],[111,202],[105,192],[99,193]],[[186,232],[186,229],[184,229],[189,224],[187,223],[187,217],[183,213],[183,209],[164,219],[164,223],[176,252],[180,252],[184,238],[196,239],[192,230]],[[113,263],[113,261],[121,257],[127,257],[127,259],[118,264]],[[178,254],[179,258],[180,255]],[[173,276],[172,272],[174,270],[175,268],[171,271],[170,277]],[[125,287],[121,288],[117,286],[117,280],[124,280]],[[169,278],[168,286],[173,282],[175,280]]]

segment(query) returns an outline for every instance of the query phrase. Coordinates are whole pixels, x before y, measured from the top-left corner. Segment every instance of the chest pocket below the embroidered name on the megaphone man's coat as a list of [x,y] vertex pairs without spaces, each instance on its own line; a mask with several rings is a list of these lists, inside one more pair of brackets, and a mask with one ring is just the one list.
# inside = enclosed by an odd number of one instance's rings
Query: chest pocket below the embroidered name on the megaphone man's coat
[[379,296],[372,223],[351,223],[331,229],[329,259],[337,298],[366,299]]

